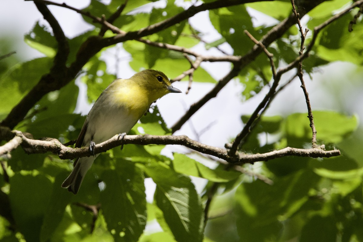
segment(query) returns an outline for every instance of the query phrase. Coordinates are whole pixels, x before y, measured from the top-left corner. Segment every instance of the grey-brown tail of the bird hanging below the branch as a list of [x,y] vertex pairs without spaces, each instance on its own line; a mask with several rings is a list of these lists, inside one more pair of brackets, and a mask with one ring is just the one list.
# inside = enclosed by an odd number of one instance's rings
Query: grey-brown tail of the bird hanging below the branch
[[91,167],[95,156],[82,157],[74,161],[74,168],[67,179],[62,183],[62,188],[68,188],[69,192],[77,194],[83,178]]

